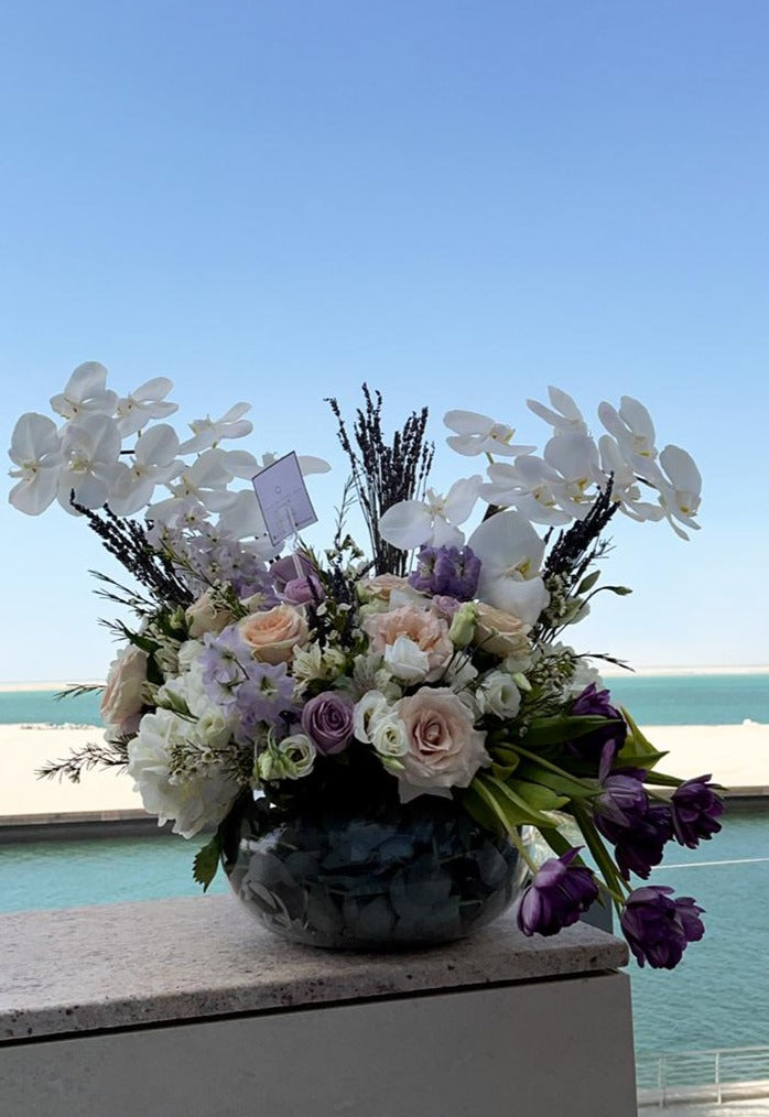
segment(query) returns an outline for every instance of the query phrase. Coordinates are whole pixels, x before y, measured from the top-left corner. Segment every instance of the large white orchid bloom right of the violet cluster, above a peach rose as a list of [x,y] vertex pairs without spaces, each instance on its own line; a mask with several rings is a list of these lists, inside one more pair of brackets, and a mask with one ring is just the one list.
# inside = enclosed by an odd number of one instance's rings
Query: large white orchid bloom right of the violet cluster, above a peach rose
[[467,545],[481,560],[477,595],[526,624],[550,602],[540,577],[544,543],[518,512],[499,512],[475,528]]

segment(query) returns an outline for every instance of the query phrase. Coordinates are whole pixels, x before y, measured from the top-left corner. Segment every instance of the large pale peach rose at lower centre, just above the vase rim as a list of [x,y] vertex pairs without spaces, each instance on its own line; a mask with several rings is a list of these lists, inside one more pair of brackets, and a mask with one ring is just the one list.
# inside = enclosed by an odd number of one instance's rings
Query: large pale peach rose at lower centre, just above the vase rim
[[448,687],[420,687],[396,703],[395,713],[406,726],[408,752],[400,757],[406,784],[466,787],[480,767],[491,764],[486,734]]

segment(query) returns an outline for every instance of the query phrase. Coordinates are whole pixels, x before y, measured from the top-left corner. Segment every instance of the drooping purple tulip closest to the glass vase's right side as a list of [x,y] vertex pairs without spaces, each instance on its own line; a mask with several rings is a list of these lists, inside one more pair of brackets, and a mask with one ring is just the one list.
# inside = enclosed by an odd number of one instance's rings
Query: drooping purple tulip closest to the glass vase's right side
[[524,935],[557,935],[577,923],[597,898],[598,885],[590,869],[571,863],[578,853],[576,847],[545,861],[523,892],[518,925]]

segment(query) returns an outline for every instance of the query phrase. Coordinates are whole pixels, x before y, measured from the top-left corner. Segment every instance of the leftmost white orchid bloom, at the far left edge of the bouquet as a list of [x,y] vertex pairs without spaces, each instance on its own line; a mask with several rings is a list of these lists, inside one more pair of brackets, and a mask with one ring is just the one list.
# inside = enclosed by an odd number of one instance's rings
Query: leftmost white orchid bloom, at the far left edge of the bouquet
[[61,439],[53,419],[28,412],[21,416],[8,451],[18,467],[10,470],[19,483],[8,499],[19,512],[39,516],[56,499],[61,465]]

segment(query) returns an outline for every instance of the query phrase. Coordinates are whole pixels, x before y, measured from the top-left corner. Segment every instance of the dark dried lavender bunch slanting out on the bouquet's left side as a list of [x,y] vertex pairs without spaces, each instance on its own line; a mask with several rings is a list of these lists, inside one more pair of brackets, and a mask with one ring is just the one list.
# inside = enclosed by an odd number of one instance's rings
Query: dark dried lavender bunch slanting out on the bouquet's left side
[[110,554],[150,591],[159,604],[171,609],[178,605],[186,609],[192,604],[193,594],[179,579],[170,557],[151,546],[137,521],[116,516],[108,505],[104,505],[103,515],[99,516],[92,508],[78,504],[74,491],[69,503],[86,517],[88,526],[98,535]]

